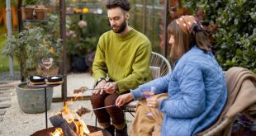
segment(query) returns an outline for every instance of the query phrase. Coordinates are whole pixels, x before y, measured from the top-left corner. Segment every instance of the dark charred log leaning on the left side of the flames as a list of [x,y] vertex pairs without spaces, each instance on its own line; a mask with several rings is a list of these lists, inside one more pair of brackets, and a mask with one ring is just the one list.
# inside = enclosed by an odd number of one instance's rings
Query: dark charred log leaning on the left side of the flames
[[73,131],[73,127],[71,127],[60,114],[51,116],[50,123],[53,124],[55,128],[61,128],[64,136],[77,136],[77,134]]

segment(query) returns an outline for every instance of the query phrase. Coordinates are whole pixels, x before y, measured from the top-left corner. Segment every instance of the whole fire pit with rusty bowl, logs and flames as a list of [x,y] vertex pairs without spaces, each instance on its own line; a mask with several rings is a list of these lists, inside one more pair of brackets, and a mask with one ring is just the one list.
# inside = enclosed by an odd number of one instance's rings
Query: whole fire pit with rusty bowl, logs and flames
[[69,110],[68,106],[71,103],[72,100],[66,101],[63,110],[50,116],[52,128],[36,131],[31,136],[111,136],[105,129],[86,125],[82,115],[89,113],[90,110],[83,107],[78,111]]

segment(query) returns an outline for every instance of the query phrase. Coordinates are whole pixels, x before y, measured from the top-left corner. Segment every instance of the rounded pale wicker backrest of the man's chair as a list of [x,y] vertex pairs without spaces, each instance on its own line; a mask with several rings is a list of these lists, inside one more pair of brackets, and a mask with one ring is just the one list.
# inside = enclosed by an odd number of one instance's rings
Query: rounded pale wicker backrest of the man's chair
[[149,63],[153,79],[164,77],[172,71],[172,67],[168,60],[162,54],[152,52],[151,61]]

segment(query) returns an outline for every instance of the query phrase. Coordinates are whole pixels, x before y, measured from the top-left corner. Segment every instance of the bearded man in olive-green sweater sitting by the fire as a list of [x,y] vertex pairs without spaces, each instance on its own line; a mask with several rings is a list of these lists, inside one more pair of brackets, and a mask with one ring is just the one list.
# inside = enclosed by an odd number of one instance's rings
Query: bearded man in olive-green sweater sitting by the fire
[[[92,91],[92,108],[98,122],[114,135],[127,135],[124,112],[115,106],[118,96],[151,80],[149,61],[151,45],[145,35],[128,26],[130,3],[127,0],[108,0],[107,16],[111,30],[104,33],[97,45],[92,65],[96,82]],[[112,124],[111,124],[112,123]]]

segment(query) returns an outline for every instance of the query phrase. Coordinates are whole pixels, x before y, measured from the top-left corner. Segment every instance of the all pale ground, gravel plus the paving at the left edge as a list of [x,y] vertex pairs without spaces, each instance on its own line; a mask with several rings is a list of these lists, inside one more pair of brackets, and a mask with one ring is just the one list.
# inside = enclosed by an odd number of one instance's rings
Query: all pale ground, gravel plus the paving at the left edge
[[[1,76],[1,75],[0,75]],[[19,81],[8,80],[0,83],[0,136],[14,136],[21,135],[27,136],[35,133],[40,129],[45,129],[45,113],[40,114],[25,114],[21,111],[17,95],[14,87]],[[73,89],[79,87],[92,87],[93,79],[89,73],[70,73],[68,74],[68,96],[72,96]],[[54,97],[61,96],[61,88],[55,87]],[[85,96],[90,96],[91,92],[84,93]],[[1,101],[2,100],[2,101]],[[50,110],[48,110],[48,117],[54,115],[63,107],[63,102],[52,103]],[[77,110],[80,106],[92,109],[90,101],[73,101],[73,104],[69,105],[70,110]],[[126,113],[126,121],[128,128],[133,117],[129,113]],[[85,124],[94,125],[95,116],[91,112],[87,115],[83,115]],[[48,120],[48,126],[51,127],[50,120]]]

